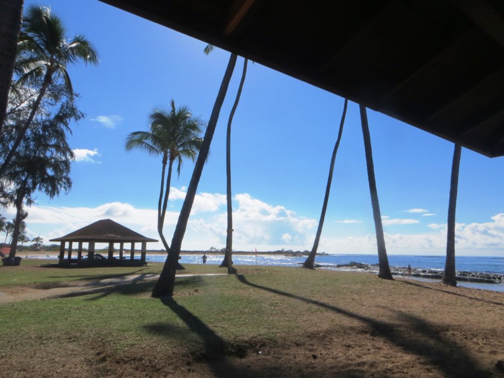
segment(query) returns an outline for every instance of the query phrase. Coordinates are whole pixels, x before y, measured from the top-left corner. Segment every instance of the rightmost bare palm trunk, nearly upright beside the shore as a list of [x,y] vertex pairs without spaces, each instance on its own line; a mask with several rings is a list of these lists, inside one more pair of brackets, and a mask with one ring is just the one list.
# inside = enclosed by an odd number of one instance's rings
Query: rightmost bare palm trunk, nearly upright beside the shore
[[455,274],[455,210],[457,208],[457,192],[459,186],[460,155],[462,147],[455,144],[452,162],[452,178],[450,180],[450,200],[448,202],[448,228],[446,243],[445,272],[443,273],[443,283],[450,286],[457,286]]

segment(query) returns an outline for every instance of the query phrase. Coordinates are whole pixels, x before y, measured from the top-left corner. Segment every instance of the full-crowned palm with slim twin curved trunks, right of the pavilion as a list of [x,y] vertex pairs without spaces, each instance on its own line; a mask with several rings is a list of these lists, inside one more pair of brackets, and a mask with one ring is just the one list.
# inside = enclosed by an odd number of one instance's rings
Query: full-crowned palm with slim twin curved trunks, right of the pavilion
[[[200,134],[205,128],[204,122],[193,117],[186,106],[175,108],[171,100],[170,109],[155,108],[150,114],[150,131],[131,133],[126,140],[126,150],[140,149],[150,155],[161,156],[161,188],[158,201],[158,233],[164,247],[170,248],[163,235],[164,218],[170,194],[171,171],[173,163],[177,162],[177,173],[180,176],[182,160],[195,160],[200,150],[202,139]],[[166,188],[164,188],[166,165]]]

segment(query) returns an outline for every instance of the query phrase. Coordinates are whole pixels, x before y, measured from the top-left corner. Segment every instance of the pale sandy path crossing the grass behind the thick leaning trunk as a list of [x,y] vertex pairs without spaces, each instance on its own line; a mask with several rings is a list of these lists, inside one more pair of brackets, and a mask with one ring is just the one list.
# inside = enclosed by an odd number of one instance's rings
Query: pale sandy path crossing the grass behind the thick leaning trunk
[[[224,274],[177,274],[177,277],[193,276],[222,276]],[[137,274],[131,276],[106,278],[92,282],[76,281],[66,283],[65,286],[50,287],[41,285],[41,287],[11,286],[2,288],[0,292],[0,303],[19,302],[25,300],[51,299],[73,295],[91,294],[98,291],[112,289],[114,287],[129,285],[139,282],[153,280],[159,277],[159,274]]]

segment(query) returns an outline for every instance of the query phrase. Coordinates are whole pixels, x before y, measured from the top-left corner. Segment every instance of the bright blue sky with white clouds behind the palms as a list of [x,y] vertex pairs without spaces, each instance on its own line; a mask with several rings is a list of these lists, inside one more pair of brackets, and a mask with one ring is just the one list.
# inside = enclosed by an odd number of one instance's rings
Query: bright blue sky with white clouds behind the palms
[[[25,9],[34,2],[25,1]],[[148,130],[156,106],[188,106],[208,120],[229,52],[97,0],[51,0],[68,28],[98,51],[97,67],[70,66],[86,118],[72,125],[68,195],[37,195],[26,219],[44,243],[99,219],[145,236],[156,230],[161,159],[126,152],[129,133]],[[225,132],[243,59],[236,64],[203,170],[182,249],[225,246]],[[231,141],[233,249],[310,250],[324,199],[343,98],[259,64],[249,64]],[[454,145],[367,110],[377,191],[389,254],[443,255]],[[164,234],[171,241],[194,164],[174,176]],[[463,149],[456,250],[504,257],[504,160]],[[14,217],[14,209],[3,215]],[[161,248],[152,243],[149,248]],[[358,105],[348,106],[319,252],[376,253]]]

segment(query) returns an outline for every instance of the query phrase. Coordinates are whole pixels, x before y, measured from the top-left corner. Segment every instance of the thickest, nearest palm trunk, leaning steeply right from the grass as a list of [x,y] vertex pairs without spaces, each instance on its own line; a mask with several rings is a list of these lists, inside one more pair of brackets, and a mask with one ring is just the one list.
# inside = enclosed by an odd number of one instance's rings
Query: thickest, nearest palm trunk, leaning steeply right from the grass
[[165,261],[161,275],[159,276],[154,289],[152,290],[152,296],[157,298],[160,296],[172,296],[173,287],[175,285],[175,270],[178,263],[178,257],[180,256],[180,247],[182,245],[182,239],[184,237],[185,228],[187,227],[187,221],[189,220],[189,215],[193,207],[194,198],[196,196],[196,191],[198,189],[198,183],[200,182],[201,173],[203,172],[203,166],[207,160],[208,151],[210,149],[210,143],[214,136],[215,127],[217,125],[217,120],[219,119],[220,109],[224,98],[226,97],[227,87],[229,86],[229,81],[231,80],[231,75],[233,74],[234,66],[236,64],[236,54],[231,54],[229,58],[229,63],[222,79],[222,83],[215,99],[215,104],[212,109],[212,114],[210,115],[210,120],[208,122],[207,131],[205,132],[205,137],[203,138],[203,143],[200,147],[200,153],[198,154],[198,159],[196,159],[196,164],[193,170],[193,176],[187,188],[187,194],[185,195],[184,203],[182,209],[180,210],[180,215],[178,216],[177,225],[175,227],[175,232],[173,233],[173,238],[171,239],[171,246],[168,251],[168,259]]

